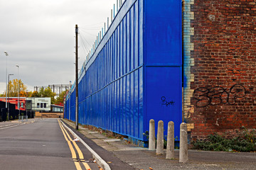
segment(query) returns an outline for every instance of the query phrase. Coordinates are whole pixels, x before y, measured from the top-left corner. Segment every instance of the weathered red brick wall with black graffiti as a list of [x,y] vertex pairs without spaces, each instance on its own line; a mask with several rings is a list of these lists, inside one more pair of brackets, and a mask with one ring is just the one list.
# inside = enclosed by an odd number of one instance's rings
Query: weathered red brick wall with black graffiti
[[256,128],[256,0],[195,0],[191,10],[192,139]]

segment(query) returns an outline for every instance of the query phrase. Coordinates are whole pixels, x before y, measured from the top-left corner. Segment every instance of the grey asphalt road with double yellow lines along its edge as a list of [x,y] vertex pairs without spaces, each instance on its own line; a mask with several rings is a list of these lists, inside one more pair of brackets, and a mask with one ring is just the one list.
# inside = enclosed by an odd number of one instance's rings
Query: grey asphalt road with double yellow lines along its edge
[[0,128],[0,169],[99,169],[92,154],[73,139],[58,119]]

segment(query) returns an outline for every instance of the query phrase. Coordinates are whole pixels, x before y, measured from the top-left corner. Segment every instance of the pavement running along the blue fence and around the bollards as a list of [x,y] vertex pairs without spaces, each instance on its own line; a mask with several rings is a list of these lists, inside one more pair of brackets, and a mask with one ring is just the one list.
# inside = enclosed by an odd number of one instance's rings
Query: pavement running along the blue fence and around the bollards
[[[71,128],[75,123],[63,120]],[[100,132],[88,130],[79,126],[75,132],[82,134],[87,141],[94,143],[108,152],[99,151],[100,157],[110,164],[111,169],[255,169],[256,153],[231,153],[231,152],[203,152],[188,151],[188,163],[178,162],[178,149],[175,150],[175,159],[165,159],[166,155],[156,156],[146,148],[136,147],[124,140],[107,138]],[[92,145],[92,144],[88,144]],[[93,148],[93,147],[92,147]],[[108,154],[108,155],[106,155]],[[114,158],[112,155],[114,155]],[[122,162],[122,164],[120,164]],[[125,166],[124,166],[125,164]]]

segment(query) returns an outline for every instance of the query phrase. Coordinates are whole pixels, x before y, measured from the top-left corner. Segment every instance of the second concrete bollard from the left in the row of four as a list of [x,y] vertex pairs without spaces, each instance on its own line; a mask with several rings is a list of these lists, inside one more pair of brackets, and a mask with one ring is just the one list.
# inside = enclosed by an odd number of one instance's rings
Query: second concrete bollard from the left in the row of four
[[159,120],[157,128],[156,154],[164,154],[164,122]]

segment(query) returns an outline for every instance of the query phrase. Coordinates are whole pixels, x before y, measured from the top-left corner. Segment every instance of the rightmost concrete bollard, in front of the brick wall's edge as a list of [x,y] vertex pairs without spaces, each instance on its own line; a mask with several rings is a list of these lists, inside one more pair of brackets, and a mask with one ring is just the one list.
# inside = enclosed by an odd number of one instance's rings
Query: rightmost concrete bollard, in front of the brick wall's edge
[[188,162],[188,132],[186,123],[181,123],[179,162]]

